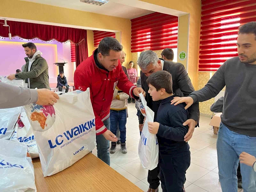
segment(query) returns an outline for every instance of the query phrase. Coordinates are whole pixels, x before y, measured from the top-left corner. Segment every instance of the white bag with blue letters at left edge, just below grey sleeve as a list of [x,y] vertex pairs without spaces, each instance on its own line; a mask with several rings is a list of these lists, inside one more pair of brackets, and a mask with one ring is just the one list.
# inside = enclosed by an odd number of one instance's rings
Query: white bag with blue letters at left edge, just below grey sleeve
[[10,140],[20,111],[21,107],[0,109],[0,139]]

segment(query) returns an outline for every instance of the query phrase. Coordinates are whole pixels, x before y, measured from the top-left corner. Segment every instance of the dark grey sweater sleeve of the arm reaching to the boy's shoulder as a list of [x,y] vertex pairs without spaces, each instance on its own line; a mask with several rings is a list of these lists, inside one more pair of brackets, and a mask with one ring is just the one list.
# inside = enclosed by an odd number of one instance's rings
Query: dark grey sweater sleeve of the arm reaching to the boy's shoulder
[[[227,61],[226,61],[227,62]],[[226,62],[220,66],[220,68],[214,73],[208,83],[200,90],[192,92],[189,96],[193,98],[194,103],[203,102],[209,100],[225,87],[225,67]]]

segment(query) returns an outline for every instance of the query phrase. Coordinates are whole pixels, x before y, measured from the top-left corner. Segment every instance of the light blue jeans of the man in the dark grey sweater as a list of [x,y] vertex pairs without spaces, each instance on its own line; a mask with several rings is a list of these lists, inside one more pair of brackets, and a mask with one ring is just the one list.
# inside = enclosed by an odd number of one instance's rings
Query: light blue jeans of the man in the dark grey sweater
[[[217,139],[219,178],[222,192],[237,192],[237,167],[242,152],[256,156],[256,137],[230,131],[222,122]],[[256,191],[256,172],[240,164],[244,192]]]

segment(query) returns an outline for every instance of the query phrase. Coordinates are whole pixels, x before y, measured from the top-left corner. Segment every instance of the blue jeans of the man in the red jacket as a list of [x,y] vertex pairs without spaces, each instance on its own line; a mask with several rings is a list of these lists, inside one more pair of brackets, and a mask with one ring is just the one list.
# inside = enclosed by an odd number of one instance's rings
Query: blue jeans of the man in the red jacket
[[[103,121],[103,124],[109,130],[110,120],[109,118]],[[109,140],[106,140],[103,134],[96,135],[96,143],[97,143],[97,156],[102,161],[110,166],[110,157],[109,157]]]

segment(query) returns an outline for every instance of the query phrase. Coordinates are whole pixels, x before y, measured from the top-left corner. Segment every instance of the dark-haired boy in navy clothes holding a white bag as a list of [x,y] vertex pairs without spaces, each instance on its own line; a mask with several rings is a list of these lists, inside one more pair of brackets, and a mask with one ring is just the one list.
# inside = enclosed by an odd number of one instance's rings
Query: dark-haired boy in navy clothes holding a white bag
[[148,93],[153,101],[162,100],[157,111],[156,121],[148,123],[150,133],[156,134],[159,144],[160,180],[163,192],[184,192],[185,174],[190,165],[189,145],[184,141],[188,126],[185,105],[171,105],[172,75],[158,71],[147,79]]

